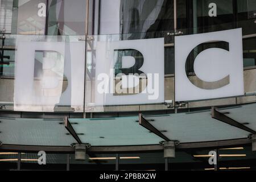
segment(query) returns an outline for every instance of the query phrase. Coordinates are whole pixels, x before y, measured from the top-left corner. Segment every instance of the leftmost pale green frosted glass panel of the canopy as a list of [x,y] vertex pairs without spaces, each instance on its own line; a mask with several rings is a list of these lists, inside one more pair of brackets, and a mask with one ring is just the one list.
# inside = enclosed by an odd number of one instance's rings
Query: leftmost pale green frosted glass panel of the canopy
[[76,140],[68,135],[63,119],[1,118],[3,144],[30,146],[70,146]]

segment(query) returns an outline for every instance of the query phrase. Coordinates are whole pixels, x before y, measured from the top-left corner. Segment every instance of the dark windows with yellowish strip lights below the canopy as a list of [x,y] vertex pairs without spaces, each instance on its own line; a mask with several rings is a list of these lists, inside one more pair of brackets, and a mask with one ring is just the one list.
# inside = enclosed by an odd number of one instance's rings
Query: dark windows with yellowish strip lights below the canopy
[[[176,152],[175,159],[168,161],[163,158],[162,152],[89,154],[86,162],[75,160],[73,154],[47,154],[47,164],[42,166],[38,165],[38,155],[35,153],[2,152],[0,170],[16,170],[20,155],[19,168],[25,171],[115,171],[117,168],[122,171],[164,171],[165,166],[168,166],[170,171],[214,171],[214,167],[208,163],[209,151],[180,150]],[[221,171],[254,171],[256,168],[255,155],[248,146],[220,148],[218,156],[218,169]]]

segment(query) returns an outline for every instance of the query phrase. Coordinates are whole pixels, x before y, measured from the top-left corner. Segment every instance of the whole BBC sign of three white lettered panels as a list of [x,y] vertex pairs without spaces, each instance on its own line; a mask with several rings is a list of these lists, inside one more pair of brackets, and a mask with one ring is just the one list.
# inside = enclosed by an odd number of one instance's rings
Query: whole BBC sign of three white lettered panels
[[[94,80],[89,80],[94,88],[85,90],[85,100],[94,100],[86,104],[164,102],[163,38],[96,41],[95,49]],[[27,41],[21,36],[15,57],[16,110],[26,105],[35,110],[42,105],[82,106],[84,57],[84,42]],[[241,28],[175,36],[175,101],[243,94]]]

